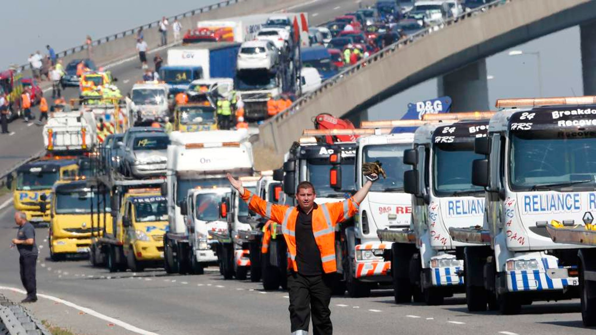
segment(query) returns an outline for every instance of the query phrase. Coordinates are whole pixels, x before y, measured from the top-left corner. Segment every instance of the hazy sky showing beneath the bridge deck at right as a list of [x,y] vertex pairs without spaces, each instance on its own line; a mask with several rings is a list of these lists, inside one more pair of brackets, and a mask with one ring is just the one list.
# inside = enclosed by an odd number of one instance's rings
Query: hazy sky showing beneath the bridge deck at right
[[[538,64],[535,55],[510,56],[511,50],[540,52],[542,91],[545,97],[583,95],[582,58],[579,26],[514,46],[486,58],[489,106],[495,109],[498,98],[538,97]],[[413,86],[369,108],[371,120],[399,119],[408,103],[437,96],[437,80]]]

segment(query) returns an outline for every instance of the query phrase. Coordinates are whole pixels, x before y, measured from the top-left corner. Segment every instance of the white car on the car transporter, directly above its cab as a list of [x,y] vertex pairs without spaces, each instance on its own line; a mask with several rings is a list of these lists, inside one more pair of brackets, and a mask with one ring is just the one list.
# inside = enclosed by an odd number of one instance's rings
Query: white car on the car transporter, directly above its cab
[[279,51],[271,41],[244,42],[238,51],[238,70],[272,69]]

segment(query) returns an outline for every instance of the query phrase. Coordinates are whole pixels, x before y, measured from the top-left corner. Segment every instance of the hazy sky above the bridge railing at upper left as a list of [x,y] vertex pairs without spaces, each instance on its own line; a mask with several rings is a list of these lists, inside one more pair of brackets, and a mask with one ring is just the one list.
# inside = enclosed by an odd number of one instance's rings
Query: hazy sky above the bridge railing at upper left
[[[0,69],[26,64],[29,54],[56,52],[221,0],[2,0]],[[77,8],[79,7],[79,8]]]

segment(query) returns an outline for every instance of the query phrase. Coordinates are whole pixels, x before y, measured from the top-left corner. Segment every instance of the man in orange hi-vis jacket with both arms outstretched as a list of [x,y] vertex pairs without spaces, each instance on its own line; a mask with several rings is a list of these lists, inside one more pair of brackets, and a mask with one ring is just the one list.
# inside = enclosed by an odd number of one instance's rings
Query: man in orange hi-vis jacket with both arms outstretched
[[242,187],[228,173],[228,179],[249,204],[249,209],[281,224],[288,259],[291,335],[308,335],[311,319],[315,335],[333,334],[331,325],[331,285],[337,271],[335,227],[358,213],[358,206],[378,179],[374,173],[356,194],[340,203],[315,203],[315,187],[308,181],[298,184],[297,207],[268,203]]

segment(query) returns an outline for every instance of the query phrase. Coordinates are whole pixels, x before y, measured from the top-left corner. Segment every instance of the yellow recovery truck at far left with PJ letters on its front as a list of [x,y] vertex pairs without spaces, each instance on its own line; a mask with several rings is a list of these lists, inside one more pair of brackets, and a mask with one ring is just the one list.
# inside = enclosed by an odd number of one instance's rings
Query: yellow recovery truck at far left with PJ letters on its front
[[[33,225],[49,224],[49,204],[55,182],[74,178],[79,167],[75,160],[41,159],[21,165],[14,176],[7,176],[7,186],[13,191],[14,209],[24,212]],[[14,184],[14,185],[13,185]]]

